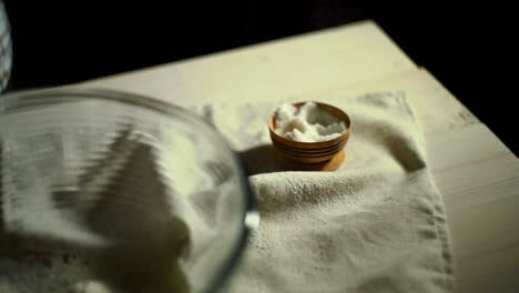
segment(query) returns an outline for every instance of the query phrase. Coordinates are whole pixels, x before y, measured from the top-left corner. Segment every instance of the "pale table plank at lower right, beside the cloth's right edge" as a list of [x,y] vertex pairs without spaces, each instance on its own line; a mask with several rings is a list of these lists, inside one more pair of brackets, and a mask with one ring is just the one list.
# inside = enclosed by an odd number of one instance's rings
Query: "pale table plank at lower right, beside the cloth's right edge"
[[456,292],[519,289],[519,160],[484,124],[427,138],[454,244]]

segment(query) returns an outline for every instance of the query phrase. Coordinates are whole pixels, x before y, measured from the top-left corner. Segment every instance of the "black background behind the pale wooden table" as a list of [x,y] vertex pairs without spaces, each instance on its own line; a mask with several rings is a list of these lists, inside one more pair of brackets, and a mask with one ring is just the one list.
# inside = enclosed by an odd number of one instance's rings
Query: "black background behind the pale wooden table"
[[[513,10],[434,1],[4,1],[11,90],[59,85],[374,19],[516,152]],[[109,3],[106,3],[109,2]],[[151,1],[150,1],[151,2]]]

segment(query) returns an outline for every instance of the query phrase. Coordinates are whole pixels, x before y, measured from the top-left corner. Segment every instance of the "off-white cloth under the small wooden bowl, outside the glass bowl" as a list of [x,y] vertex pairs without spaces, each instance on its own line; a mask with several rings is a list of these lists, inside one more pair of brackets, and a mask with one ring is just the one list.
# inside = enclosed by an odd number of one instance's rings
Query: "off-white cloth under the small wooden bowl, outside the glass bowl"
[[266,119],[278,104],[201,109],[251,169],[261,213],[226,292],[450,292],[442,200],[405,93],[325,102],[353,122],[335,172],[276,170]]

